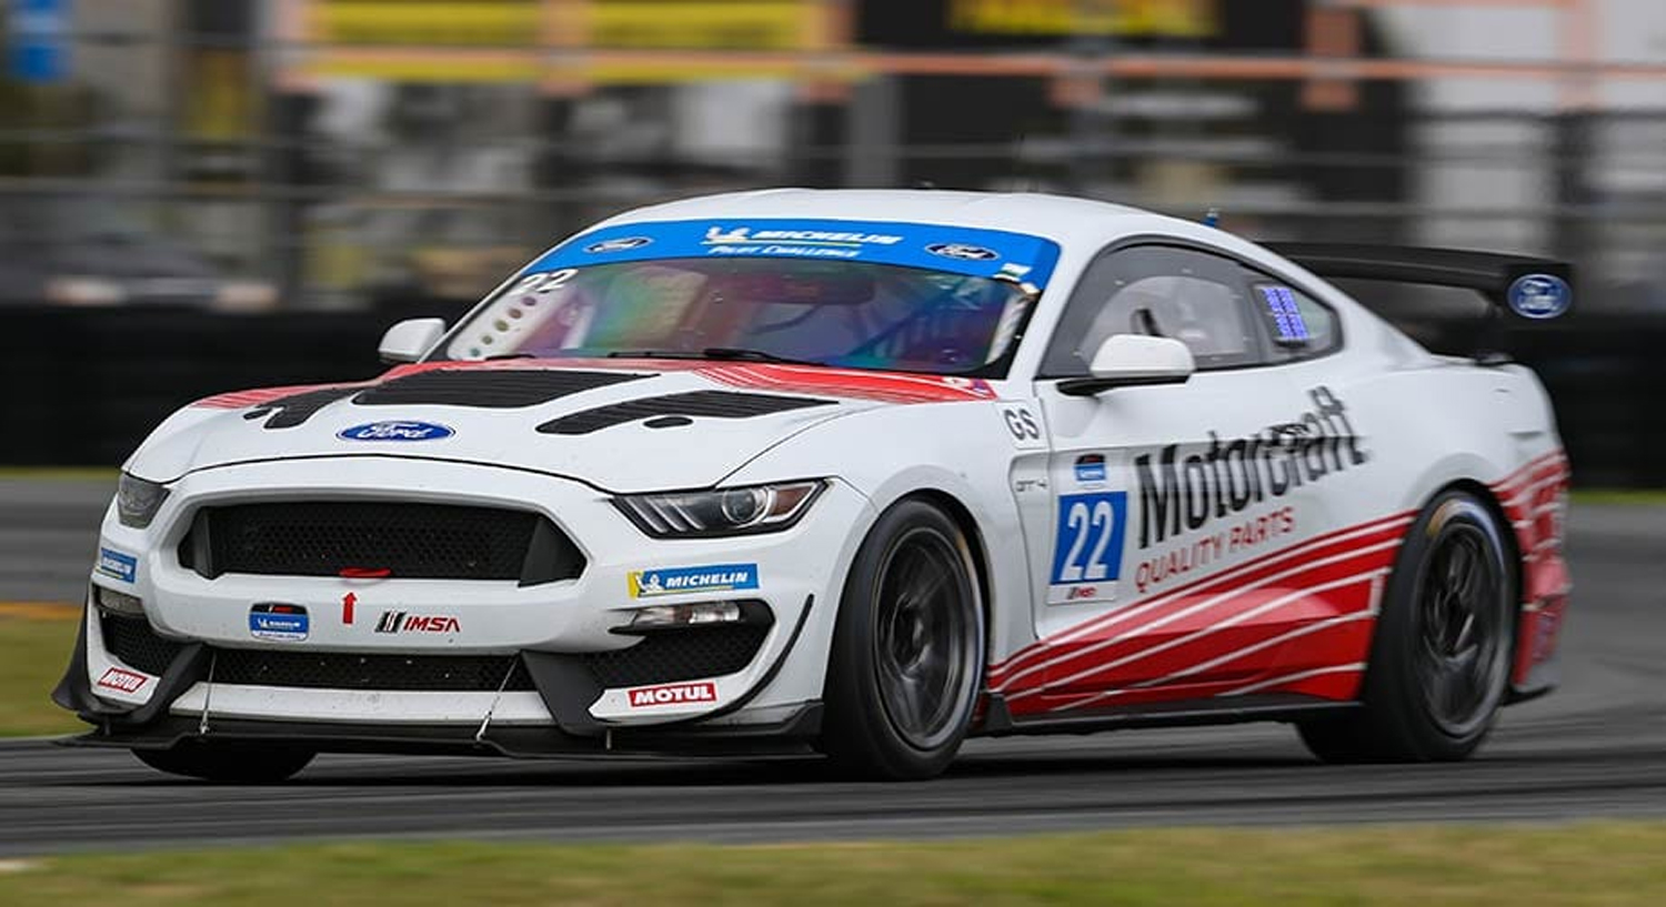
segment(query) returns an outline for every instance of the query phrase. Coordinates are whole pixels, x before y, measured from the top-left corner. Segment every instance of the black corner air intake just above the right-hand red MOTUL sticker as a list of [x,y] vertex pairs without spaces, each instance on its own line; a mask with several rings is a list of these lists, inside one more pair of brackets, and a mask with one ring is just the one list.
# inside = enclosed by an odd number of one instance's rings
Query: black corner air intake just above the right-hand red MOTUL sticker
[[603,687],[721,677],[751,664],[768,632],[761,624],[685,629],[643,637],[630,649],[581,657]]

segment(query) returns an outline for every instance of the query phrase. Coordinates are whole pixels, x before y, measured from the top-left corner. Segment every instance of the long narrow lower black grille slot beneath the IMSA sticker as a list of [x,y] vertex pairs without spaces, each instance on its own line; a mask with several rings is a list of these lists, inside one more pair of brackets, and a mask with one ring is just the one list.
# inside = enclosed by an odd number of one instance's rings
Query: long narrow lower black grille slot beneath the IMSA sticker
[[[403,656],[362,652],[280,652],[215,649],[217,684],[493,692],[533,689],[520,656]],[[505,684],[503,677],[508,677]]]

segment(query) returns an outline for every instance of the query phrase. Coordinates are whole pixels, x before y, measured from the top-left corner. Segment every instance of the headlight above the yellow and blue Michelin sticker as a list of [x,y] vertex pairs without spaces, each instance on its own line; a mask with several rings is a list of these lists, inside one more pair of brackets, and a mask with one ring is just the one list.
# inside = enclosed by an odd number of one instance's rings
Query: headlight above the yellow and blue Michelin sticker
[[638,529],[658,539],[750,536],[776,533],[798,523],[810,503],[826,488],[823,481],[631,494],[613,504]]

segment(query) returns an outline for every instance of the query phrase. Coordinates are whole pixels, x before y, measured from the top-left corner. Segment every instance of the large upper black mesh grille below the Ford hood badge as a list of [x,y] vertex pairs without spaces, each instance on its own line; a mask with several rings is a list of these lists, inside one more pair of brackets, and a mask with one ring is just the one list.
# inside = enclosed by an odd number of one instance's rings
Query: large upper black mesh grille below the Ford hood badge
[[[530,511],[387,501],[295,501],[197,511],[180,563],[203,577],[573,579],[585,559]],[[362,572],[363,574],[363,572]]]

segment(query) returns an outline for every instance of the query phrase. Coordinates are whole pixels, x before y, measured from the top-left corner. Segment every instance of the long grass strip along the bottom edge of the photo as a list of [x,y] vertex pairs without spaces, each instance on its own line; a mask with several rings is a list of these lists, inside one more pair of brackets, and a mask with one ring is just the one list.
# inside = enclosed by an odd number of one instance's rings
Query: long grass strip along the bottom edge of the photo
[[0,864],[0,904],[1666,904],[1666,824],[721,847],[307,844]]

